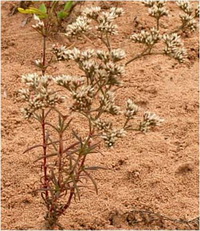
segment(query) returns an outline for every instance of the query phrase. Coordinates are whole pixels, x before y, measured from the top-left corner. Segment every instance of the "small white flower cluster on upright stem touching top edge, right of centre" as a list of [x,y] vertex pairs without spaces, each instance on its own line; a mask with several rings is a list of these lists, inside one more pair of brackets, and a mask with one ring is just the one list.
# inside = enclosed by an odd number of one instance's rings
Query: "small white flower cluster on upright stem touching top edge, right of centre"
[[149,15],[158,19],[168,14],[169,11],[165,8],[164,2],[161,1],[153,2],[153,5],[149,8]]

